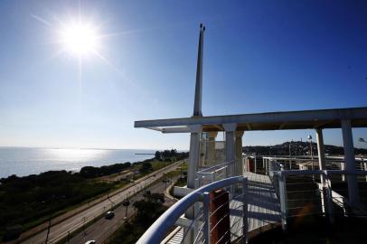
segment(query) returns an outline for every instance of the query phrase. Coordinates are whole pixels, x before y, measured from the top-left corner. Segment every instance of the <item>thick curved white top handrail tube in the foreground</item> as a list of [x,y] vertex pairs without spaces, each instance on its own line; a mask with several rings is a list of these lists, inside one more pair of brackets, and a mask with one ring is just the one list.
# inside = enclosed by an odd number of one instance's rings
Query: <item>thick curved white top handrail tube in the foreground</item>
[[161,217],[156,220],[152,226],[146,230],[144,235],[137,240],[136,243],[159,243],[165,238],[165,233],[174,226],[175,222],[184,214],[184,212],[193,206],[195,202],[203,202],[204,192],[212,192],[216,189],[226,187],[234,183],[243,183],[247,178],[243,176],[234,176],[231,178],[226,178],[224,180],[209,183],[202,186],[201,188],[189,193],[179,202],[174,203],[174,205],[165,211]]

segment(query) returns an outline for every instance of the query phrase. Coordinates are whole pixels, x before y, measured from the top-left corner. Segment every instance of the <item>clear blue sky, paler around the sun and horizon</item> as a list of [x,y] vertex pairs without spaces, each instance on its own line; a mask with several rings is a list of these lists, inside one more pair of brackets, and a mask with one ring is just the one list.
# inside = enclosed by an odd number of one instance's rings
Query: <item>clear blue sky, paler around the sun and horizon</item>
[[[199,2],[199,3],[198,3]],[[99,26],[99,54],[59,53],[60,23]],[[135,120],[367,106],[365,1],[1,1],[0,145],[188,148]],[[81,74],[81,76],[80,76]],[[253,132],[244,145],[313,131]],[[366,129],[353,129],[356,139]],[[340,130],[325,143],[342,145]]]

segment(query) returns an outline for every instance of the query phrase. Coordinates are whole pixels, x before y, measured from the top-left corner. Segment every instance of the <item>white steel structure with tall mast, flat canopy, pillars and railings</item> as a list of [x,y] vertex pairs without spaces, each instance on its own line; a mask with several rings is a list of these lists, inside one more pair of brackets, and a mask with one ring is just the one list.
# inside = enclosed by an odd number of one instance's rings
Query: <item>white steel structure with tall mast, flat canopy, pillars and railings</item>
[[[188,167],[188,180],[187,188],[191,189],[184,199],[177,202],[173,208],[165,212],[161,218],[156,221],[153,226],[146,231],[142,239],[139,239],[138,243],[158,243],[164,238],[165,231],[173,227],[180,216],[185,213],[185,219],[193,224],[193,226],[185,226],[184,233],[189,235],[189,238],[185,239],[186,243],[193,243],[198,240],[198,221],[195,218],[198,214],[199,207],[197,202],[203,202],[202,214],[204,219],[208,220],[208,193],[211,189],[223,187],[224,184],[229,185],[234,182],[244,181],[243,176],[233,177],[235,175],[243,175],[243,160],[242,160],[242,136],[245,131],[250,130],[288,130],[288,129],[315,129],[318,149],[318,164],[319,171],[294,171],[287,173],[288,171],[279,171],[280,168],[275,165],[270,165],[266,169],[266,173],[271,171],[271,176],[276,175],[277,182],[276,188],[279,192],[279,198],[281,202],[282,222],[283,227],[287,227],[287,199],[286,195],[286,175],[287,174],[319,174],[322,175],[323,187],[327,183],[327,177],[330,174],[346,174],[349,193],[349,204],[359,205],[359,190],[356,181],[356,174],[361,174],[355,167],[355,158],[353,154],[353,127],[367,127],[367,108],[335,108],[335,109],[317,109],[317,110],[302,110],[302,111],[281,111],[281,112],[269,112],[269,113],[255,113],[255,114],[240,114],[240,115],[224,115],[224,116],[202,116],[202,53],[203,53],[203,33],[204,28],[201,24],[199,48],[198,48],[198,61],[196,70],[196,83],[195,83],[195,99],[193,107],[193,117],[179,117],[179,118],[167,118],[167,119],[155,119],[155,120],[142,120],[136,121],[135,127],[145,127],[160,131],[162,133],[190,133],[190,155],[189,155],[189,167]],[[343,146],[344,146],[344,163],[345,171],[328,171],[325,170],[325,149],[323,140],[323,129],[326,128],[342,128],[343,132]],[[218,132],[225,133],[225,161],[231,162],[231,164],[224,163],[225,167],[212,167],[208,170],[200,169],[199,166],[202,162],[201,155],[205,152],[208,158],[214,158],[213,149],[215,137]],[[203,136],[205,135],[205,136]],[[205,149],[202,148],[201,142],[203,137],[211,142]],[[256,157],[255,157],[256,158]],[[291,163],[289,163],[292,165]],[[268,165],[268,164],[267,164]],[[219,169],[225,169],[225,179],[219,182],[215,182],[218,179],[215,175]],[[255,167],[256,169],[256,167]],[[278,173],[277,173],[278,172]],[[197,189],[201,184],[198,183],[205,175],[210,174],[210,183],[207,186]],[[363,173],[364,174],[364,173]],[[267,176],[268,177],[268,176]],[[273,182],[274,183],[274,182]],[[215,187],[214,187],[215,186]],[[324,187],[325,188],[325,187]],[[327,188],[327,187],[326,187]],[[195,190],[197,189],[197,190]],[[245,188],[242,188],[244,191]],[[328,191],[328,190],[327,190]],[[190,192],[190,191],[187,191]],[[235,189],[231,187],[231,193],[233,194]],[[327,192],[326,192],[327,193]],[[330,193],[331,194],[331,193]],[[332,195],[332,194],[331,194]],[[329,198],[325,198],[325,201]],[[332,197],[330,197],[332,199]],[[196,202],[196,203],[195,203]],[[330,207],[330,206],[329,206]],[[330,208],[328,208],[330,209]],[[246,210],[244,212],[246,213]],[[246,214],[244,213],[244,216]],[[243,221],[244,225],[247,225],[247,220]],[[193,227],[193,228],[192,228]],[[208,222],[204,221],[202,225],[203,242],[209,243],[208,236]],[[181,232],[180,232],[181,233]],[[247,238],[247,232],[243,232]]]

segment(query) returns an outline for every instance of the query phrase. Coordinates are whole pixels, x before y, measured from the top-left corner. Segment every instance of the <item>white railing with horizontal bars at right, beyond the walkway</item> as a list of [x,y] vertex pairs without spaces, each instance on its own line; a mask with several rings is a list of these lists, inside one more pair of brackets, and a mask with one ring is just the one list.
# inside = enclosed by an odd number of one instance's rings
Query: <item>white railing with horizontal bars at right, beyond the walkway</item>
[[[277,163],[276,161],[272,163]],[[275,168],[278,166],[276,164]],[[364,216],[367,214],[365,206],[360,199],[360,193],[366,194],[365,190],[359,190],[358,180],[366,182],[366,171],[346,171],[346,170],[284,170],[281,165],[280,171],[272,171],[270,174],[273,184],[277,190],[281,208],[281,220],[283,229],[287,229],[287,219],[300,215],[323,214],[328,217],[330,223],[334,223],[334,214],[349,216]],[[303,176],[304,178],[301,178]],[[305,178],[308,176],[308,182]],[[360,179],[357,178],[360,176]],[[362,176],[362,177],[361,177]],[[349,178],[348,183],[344,178]],[[298,180],[297,180],[298,179]],[[287,183],[289,181],[289,183]],[[334,191],[332,185],[338,185],[338,190]],[[348,185],[347,190],[340,187],[341,183]],[[287,184],[291,189],[287,189]],[[300,187],[302,186],[302,187]],[[306,186],[306,187],[305,187]],[[313,187],[316,186],[316,187]],[[338,193],[340,192],[340,193]],[[288,195],[291,195],[289,197]],[[307,195],[305,198],[304,195]],[[319,202],[314,204],[314,211],[299,211],[310,206],[312,201]],[[363,202],[365,202],[363,200]],[[316,206],[316,207],[315,207]],[[353,212],[348,212],[353,210]],[[337,211],[337,212],[335,212]]]

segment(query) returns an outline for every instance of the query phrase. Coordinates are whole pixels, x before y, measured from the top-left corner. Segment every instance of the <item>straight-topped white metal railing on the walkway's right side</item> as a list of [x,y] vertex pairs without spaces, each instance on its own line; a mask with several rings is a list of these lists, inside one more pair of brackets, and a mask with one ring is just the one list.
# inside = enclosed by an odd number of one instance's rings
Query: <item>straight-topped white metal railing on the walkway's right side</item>
[[[276,188],[276,192],[278,194],[278,198],[280,201],[280,208],[281,208],[281,220],[282,220],[282,227],[284,230],[287,229],[287,218],[295,217],[297,214],[300,215],[307,215],[307,214],[315,214],[315,213],[323,213],[325,216],[328,217],[331,223],[334,222],[334,205],[339,206],[342,211],[343,215],[348,215],[348,211],[351,209],[351,202],[347,199],[346,195],[348,194],[340,194],[335,192],[332,189],[332,177],[335,175],[347,175],[347,176],[358,176],[358,175],[367,175],[365,171],[355,171],[355,172],[348,172],[344,170],[283,170],[283,165],[278,164],[277,161],[270,161],[272,163],[272,167],[275,169],[278,166],[281,167],[280,171],[272,171],[270,174],[270,178]],[[315,175],[319,178],[315,179]],[[287,183],[287,178],[294,176],[293,180],[296,179],[298,182]],[[300,176],[308,176],[309,182],[300,182],[302,179]],[[311,176],[311,177],[310,177]],[[289,179],[288,179],[289,180]],[[292,185],[293,184],[293,185]],[[294,186],[294,185],[302,185],[304,189],[293,189],[292,191],[287,191],[287,187]],[[307,186],[307,184],[314,184],[316,189],[313,187]],[[358,186],[356,186],[358,187]],[[353,189],[352,189],[353,190]],[[355,190],[355,189],[354,189]],[[350,189],[349,189],[350,191]],[[296,213],[295,210],[305,210],[305,205],[297,205],[296,202],[309,202],[313,199],[313,197],[307,196],[305,199],[302,199],[302,194],[306,193],[318,193],[318,200],[320,202],[321,211],[309,211],[309,212],[299,212]],[[349,192],[351,194],[352,192]],[[296,195],[296,197],[289,197],[289,194]],[[359,194],[359,192],[357,192]],[[317,201],[317,199],[316,199]],[[294,211],[294,212],[290,212]],[[357,204],[353,203],[353,211],[358,212],[358,214],[367,214],[366,209],[363,207],[361,202]]]

